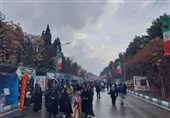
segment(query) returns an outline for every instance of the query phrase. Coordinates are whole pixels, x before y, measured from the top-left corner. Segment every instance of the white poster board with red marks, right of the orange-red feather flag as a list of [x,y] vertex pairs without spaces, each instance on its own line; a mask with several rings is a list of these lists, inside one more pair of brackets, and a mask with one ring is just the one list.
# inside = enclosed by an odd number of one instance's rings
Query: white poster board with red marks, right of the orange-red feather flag
[[34,83],[38,83],[41,87],[41,90],[45,90],[46,76],[36,76],[34,79]]

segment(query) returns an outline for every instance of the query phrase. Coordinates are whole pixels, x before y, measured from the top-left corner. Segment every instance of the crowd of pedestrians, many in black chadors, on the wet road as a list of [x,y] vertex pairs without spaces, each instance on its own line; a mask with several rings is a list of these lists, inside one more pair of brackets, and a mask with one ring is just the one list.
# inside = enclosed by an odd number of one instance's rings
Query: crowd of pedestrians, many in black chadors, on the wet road
[[[57,117],[59,112],[62,113],[62,117],[82,118],[82,117],[94,117],[93,112],[93,96],[94,87],[96,88],[97,99],[101,99],[100,83],[84,83],[76,84],[76,87],[72,86],[69,82],[63,84],[60,88],[53,86],[52,88],[47,87],[44,92],[45,97],[45,108],[49,113],[49,118]],[[126,86],[120,84],[118,87],[113,84],[109,90],[112,104],[115,105],[117,96],[121,99],[121,105],[124,104],[124,95],[126,94]],[[29,107],[30,99],[33,98],[34,106],[33,111],[39,112],[42,109],[42,95],[41,87],[36,84],[32,94],[26,92],[26,108]]]

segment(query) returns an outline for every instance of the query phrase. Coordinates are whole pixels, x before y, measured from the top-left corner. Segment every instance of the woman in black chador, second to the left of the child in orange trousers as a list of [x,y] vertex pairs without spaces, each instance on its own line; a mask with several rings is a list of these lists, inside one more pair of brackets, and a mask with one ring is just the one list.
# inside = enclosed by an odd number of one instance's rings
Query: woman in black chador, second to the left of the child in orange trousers
[[51,118],[51,113],[53,113],[54,117],[58,114],[58,100],[59,96],[57,93],[56,88],[52,89],[52,93],[49,96],[49,102],[48,102],[48,107],[49,107],[49,117]]

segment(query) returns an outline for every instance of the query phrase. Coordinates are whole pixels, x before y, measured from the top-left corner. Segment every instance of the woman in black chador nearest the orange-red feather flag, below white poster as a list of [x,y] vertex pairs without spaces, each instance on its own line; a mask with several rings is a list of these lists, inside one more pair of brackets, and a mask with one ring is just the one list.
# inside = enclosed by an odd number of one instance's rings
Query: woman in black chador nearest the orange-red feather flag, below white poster
[[38,112],[42,108],[42,91],[41,91],[41,87],[38,84],[35,84],[33,97],[34,97],[33,111]]

